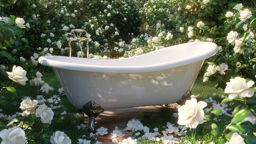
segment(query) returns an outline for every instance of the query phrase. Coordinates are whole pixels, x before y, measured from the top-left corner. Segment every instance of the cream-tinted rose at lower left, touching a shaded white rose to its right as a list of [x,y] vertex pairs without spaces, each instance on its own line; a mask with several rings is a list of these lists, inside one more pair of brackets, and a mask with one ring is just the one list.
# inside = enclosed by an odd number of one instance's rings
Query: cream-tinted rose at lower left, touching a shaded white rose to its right
[[31,113],[35,113],[35,109],[36,107],[38,106],[38,101],[37,100],[31,100],[29,97],[27,97],[25,100],[23,100],[21,102],[21,106],[20,106],[20,109],[21,110],[25,110],[23,111],[22,113],[22,116],[25,116],[28,115],[28,114],[31,114]]

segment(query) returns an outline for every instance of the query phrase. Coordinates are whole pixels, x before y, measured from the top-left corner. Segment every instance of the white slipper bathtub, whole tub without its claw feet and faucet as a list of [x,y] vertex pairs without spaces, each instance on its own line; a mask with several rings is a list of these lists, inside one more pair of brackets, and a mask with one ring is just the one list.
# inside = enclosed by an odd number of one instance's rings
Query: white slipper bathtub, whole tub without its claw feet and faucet
[[[139,55],[136,56],[136,59],[135,57],[126,58],[128,61],[95,60],[95,65],[91,63],[94,59],[89,59],[90,62],[87,63],[80,61],[77,63],[71,62],[71,65],[65,64],[72,61],[74,57],[65,57],[64,64],[55,60],[54,56],[50,59],[57,61],[59,64],[52,64],[54,62],[47,61],[47,57],[44,56],[40,57],[38,61],[41,64],[53,66],[69,101],[77,108],[82,108],[89,101],[96,102],[105,110],[162,105],[180,100],[192,88],[204,59],[218,52],[218,46],[214,43],[198,43],[201,44],[200,47],[205,44],[203,48],[210,48],[210,52],[204,52],[202,48],[201,50],[193,49],[197,46],[196,43],[192,45],[180,44],[179,52],[171,50],[179,45],[170,47],[170,51],[166,55],[163,55],[163,53],[157,55],[150,52],[151,55],[150,53],[143,54],[146,57]],[[191,50],[187,52],[189,49]],[[163,52],[166,53],[166,51]],[[195,56],[193,53],[199,56]],[[192,54],[192,56],[188,54]],[[181,60],[177,60],[178,57]],[[171,58],[174,60],[170,63],[167,62]],[[81,60],[80,58],[76,59]],[[162,63],[156,62],[158,59],[165,61]],[[117,61],[123,64],[111,64]],[[102,70],[99,62],[102,62]],[[104,64],[103,62],[108,63]],[[80,65],[89,65],[90,68],[88,66],[80,68]],[[91,68],[94,66],[95,69]]]

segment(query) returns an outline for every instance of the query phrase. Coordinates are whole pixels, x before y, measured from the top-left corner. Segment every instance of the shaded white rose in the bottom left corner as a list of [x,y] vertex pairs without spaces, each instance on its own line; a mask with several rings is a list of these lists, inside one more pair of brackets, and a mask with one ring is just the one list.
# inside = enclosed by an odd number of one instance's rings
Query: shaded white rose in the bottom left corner
[[0,132],[0,137],[2,138],[1,144],[26,144],[25,132],[22,128],[13,127],[8,129],[3,129]]

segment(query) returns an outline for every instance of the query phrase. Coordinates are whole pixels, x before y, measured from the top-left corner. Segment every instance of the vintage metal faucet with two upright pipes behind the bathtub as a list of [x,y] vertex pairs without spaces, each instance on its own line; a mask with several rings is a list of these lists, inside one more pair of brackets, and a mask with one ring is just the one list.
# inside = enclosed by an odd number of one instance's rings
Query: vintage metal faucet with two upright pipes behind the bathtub
[[[76,32],[76,33],[75,33]],[[86,37],[81,37],[82,33],[85,32]],[[80,49],[81,49],[81,55],[82,55],[82,46],[81,46],[81,41],[86,41],[86,58],[89,58],[89,41],[91,34],[87,33],[85,30],[82,29],[74,29],[71,30],[70,33],[66,33],[66,35],[71,35],[73,37],[67,37],[68,41],[68,55],[71,57],[71,41],[77,41]]]

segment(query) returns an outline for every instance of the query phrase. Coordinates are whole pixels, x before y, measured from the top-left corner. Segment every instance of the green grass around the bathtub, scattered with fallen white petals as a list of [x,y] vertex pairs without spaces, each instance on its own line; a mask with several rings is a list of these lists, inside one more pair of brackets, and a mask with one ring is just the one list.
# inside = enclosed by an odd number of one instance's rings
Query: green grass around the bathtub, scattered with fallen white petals
[[[38,91],[38,87],[33,87],[33,86],[29,86],[27,85],[26,89],[20,89],[19,87],[17,87],[16,84],[14,84],[13,86],[15,87],[15,89],[17,90],[17,95],[11,94],[9,91],[4,91],[1,96],[5,96],[7,98],[9,98],[10,100],[14,100],[17,102],[21,102],[21,98],[23,98],[24,96],[29,96],[32,99],[37,99],[37,95],[43,95],[44,99],[48,99],[50,97],[52,97],[53,95],[58,95],[58,89],[61,87],[56,75],[54,72],[52,73],[42,73],[42,80],[44,80],[44,82],[48,83],[49,86],[53,87],[54,90],[53,91],[49,91],[48,94],[46,94],[45,92],[41,92]],[[9,82],[9,80],[5,79],[0,81],[0,86],[3,85],[7,85],[9,86],[10,84],[7,84]],[[10,82],[9,82],[10,83]],[[208,81],[208,82],[203,82],[202,79],[197,79],[194,83],[194,86],[192,88],[192,95],[198,95],[197,100],[206,100],[209,99],[209,97],[212,97],[213,100],[216,101],[221,101],[223,98],[221,98],[221,95],[226,95],[224,93],[224,91],[222,89],[215,89],[215,85],[217,84],[216,81]],[[234,102],[234,101],[233,101]],[[32,129],[32,132],[30,132],[29,134],[33,134],[35,132],[40,132],[43,128],[51,128],[51,132],[49,134],[52,135],[53,132],[60,130],[63,131],[65,134],[67,134],[70,139],[72,140],[73,144],[76,144],[78,142],[77,139],[82,138],[82,135],[87,134],[87,130],[86,129],[80,129],[78,130],[76,128],[77,125],[80,125],[81,123],[83,123],[84,119],[83,116],[80,114],[79,116],[75,116],[75,114],[78,112],[77,108],[75,108],[73,105],[71,105],[71,103],[69,102],[68,98],[66,96],[62,96],[61,97],[61,102],[54,104],[54,103],[49,103],[49,102],[45,102],[46,105],[49,107],[49,105],[53,104],[54,106],[58,106],[58,105],[64,105],[61,108],[56,108],[54,109],[54,120],[52,121],[51,124],[42,124],[41,121],[36,121],[34,124],[34,127]],[[235,103],[241,103],[241,101],[235,101]],[[210,107],[210,106],[208,106]],[[228,108],[234,108],[234,106],[229,106]],[[6,104],[6,105],[0,105],[0,109],[2,109],[2,111],[0,113],[2,114],[6,114],[6,115],[13,115],[16,112],[22,112],[21,109],[19,108],[19,106],[14,106],[11,104]],[[66,111],[67,114],[65,115],[60,115],[60,113],[62,113],[63,111]],[[177,118],[173,117],[172,114],[173,113],[177,113],[176,110],[173,109],[169,109],[169,108],[163,108],[162,111],[160,112],[160,114],[158,115],[146,115],[141,122],[143,123],[144,126],[147,126],[150,128],[150,131],[153,131],[154,128],[159,128],[159,132],[161,132],[162,130],[165,130],[165,128],[163,128],[163,126],[166,126],[167,122],[170,123],[174,123],[175,126],[178,126],[177,124]],[[61,120],[60,118],[64,117],[63,120]],[[26,121],[28,119],[30,119],[30,117],[18,117],[18,119],[20,121]],[[215,122],[217,123],[217,125],[222,128],[224,128],[225,125],[227,125],[227,122],[230,122],[231,117],[227,117],[227,116],[220,116],[220,119],[225,119],[225,122]],[[2,120],[1,120],[2,121]],[[5,122],[5,121],[4,121]],[[18,123],[16,123],[18,124]],[[202,139],[200,139],[200,141],[206,141],[208,139],[211,139],[213,142],[218,143],[218,138],[213,137],[210,134],[209,128],[207,129],[207,127],[210,127],[210,124],[206,124],[205,125],[206,129],[204,129],[203,131],[203,137]],[[189,131],[182,135],[182,137],[184,137],[184,139],[180,142],[181,144],[186,144],[186,140],[187,141],[193,141],[193,135],[194,135],[194,130]],[[87,134],[87,136],[83,139],[87,139],[87,140],[91,140],[92,143],[95,142],[95,140],[93,138],[89,138],[89,135]],[[151,142],[148,140],[138,140],[138,144],[147,144],[147,143],[162,143],[160,142]]]

